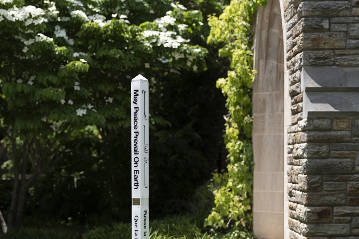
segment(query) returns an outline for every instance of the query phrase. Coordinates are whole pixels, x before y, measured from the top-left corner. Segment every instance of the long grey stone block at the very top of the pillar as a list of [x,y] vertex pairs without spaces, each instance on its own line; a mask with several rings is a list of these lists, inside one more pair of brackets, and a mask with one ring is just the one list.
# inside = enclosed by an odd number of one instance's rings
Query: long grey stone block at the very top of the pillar
[[300,17],[350,16],[350,3],[349,1],[306,1],[299,4],[298,15]]

